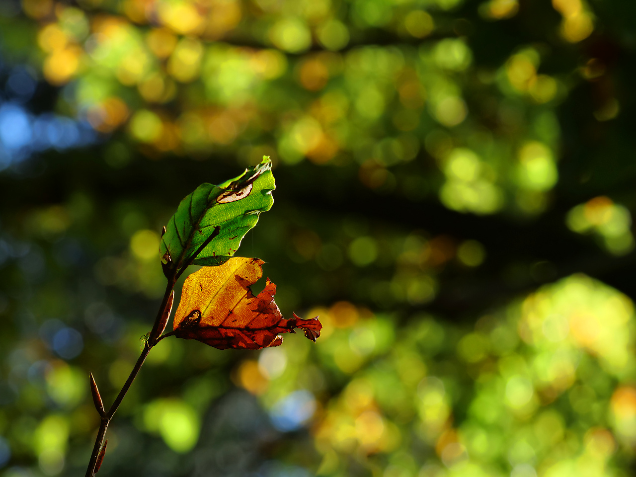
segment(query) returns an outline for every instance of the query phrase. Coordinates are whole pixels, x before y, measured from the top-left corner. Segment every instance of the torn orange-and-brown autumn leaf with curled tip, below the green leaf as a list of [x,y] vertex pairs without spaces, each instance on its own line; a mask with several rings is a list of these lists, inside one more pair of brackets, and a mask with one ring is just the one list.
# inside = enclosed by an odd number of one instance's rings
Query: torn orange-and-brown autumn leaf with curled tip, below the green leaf
[[192,273],[183,284],[174,335],[218,349],[260,349],[280,345],[279,333],[301,328],[315,341],[322,328],[318,317],[282,317],[274,301],[276,286],[270,279],[254,296],[250,286],[263,276],[263,263],[258,258],[235,257]]

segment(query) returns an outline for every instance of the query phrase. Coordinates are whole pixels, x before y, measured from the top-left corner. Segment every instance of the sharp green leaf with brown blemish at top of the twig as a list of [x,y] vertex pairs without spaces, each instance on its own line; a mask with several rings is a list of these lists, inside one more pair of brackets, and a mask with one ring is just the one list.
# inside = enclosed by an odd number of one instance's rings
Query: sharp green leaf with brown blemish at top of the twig
[[[184,265],[221,265],[239,249],[245,233],[261,212],[274,202],[272,161],[263,156],[259,165],[239,177],[215,186],[204,183],[184,198],[165,226],[159,254],[164,268]],[[218,230],[218,232],[216,232]],[[204,249],[190,260],[205,242]]]

